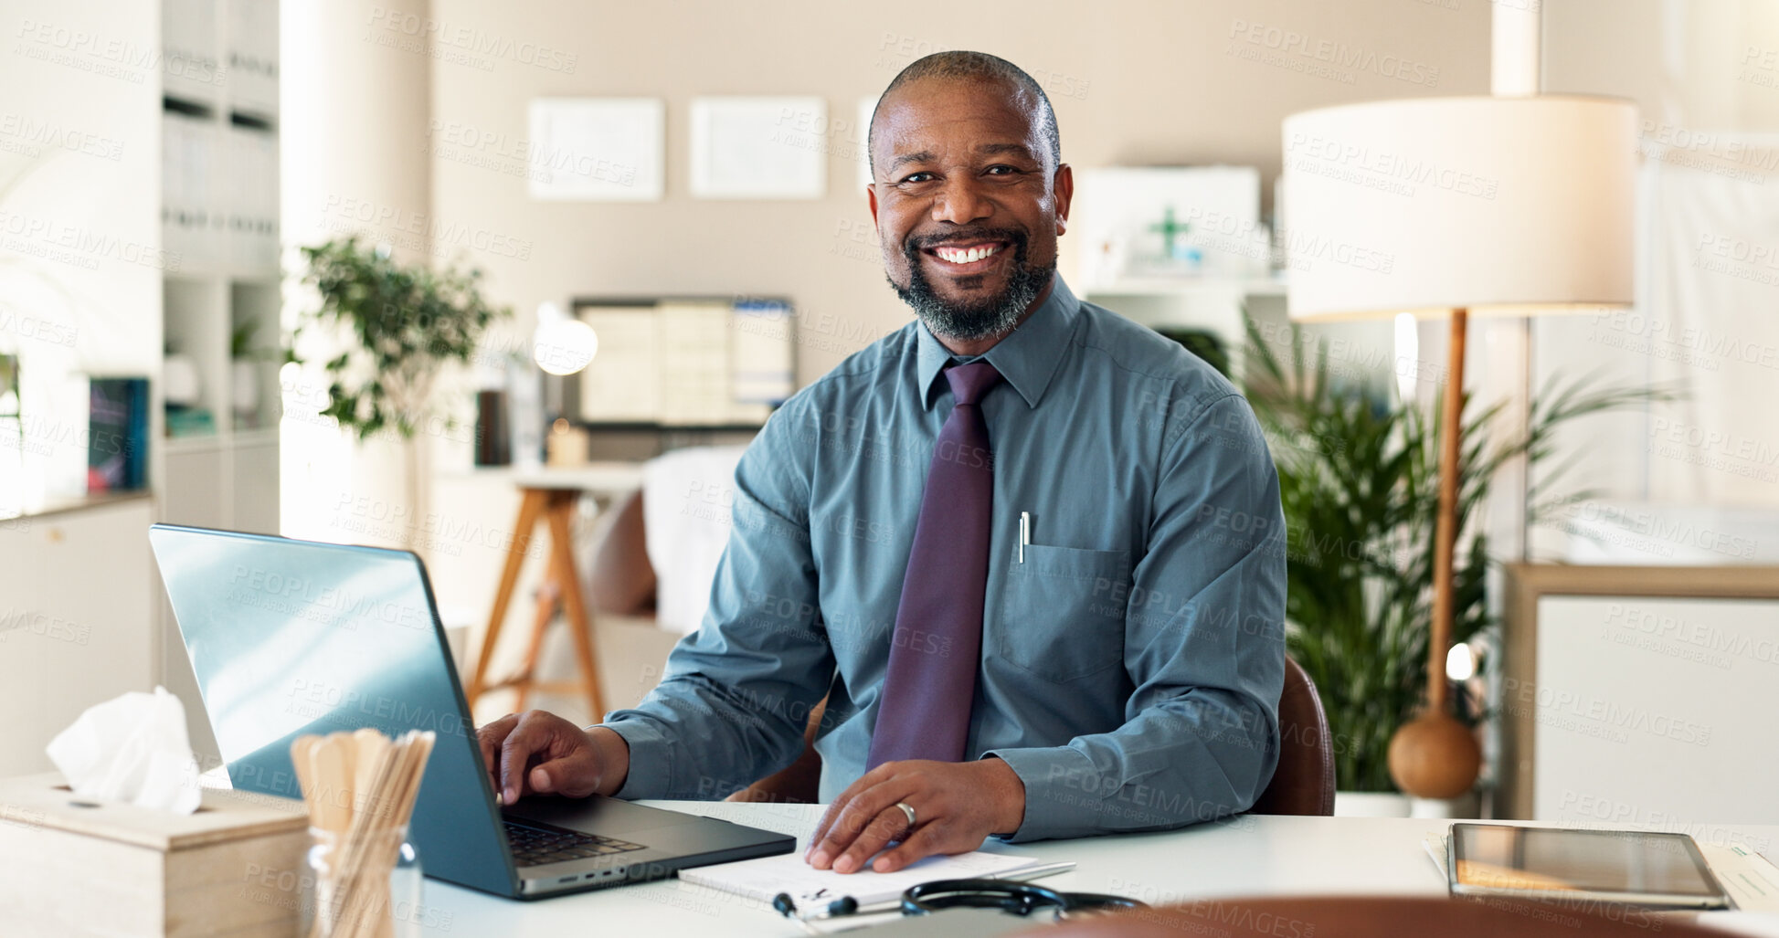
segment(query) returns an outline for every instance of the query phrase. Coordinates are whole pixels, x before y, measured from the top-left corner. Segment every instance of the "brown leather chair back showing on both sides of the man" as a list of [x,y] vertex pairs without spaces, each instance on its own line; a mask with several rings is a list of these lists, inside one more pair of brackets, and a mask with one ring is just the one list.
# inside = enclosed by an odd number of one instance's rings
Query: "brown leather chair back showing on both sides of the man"
[[[804,751],[797,762],[735,792],[729,801],[792,801],[813,805],[820,796],[822,758],[815,755],[815,728],[825,701],[809,714]],[[1334,751],[1329,721],[1316,685],[1295,660],[1284,659],[1284,692],[1279,694],[1279,767],[1254,803],[1252,813],[1334,813]]]

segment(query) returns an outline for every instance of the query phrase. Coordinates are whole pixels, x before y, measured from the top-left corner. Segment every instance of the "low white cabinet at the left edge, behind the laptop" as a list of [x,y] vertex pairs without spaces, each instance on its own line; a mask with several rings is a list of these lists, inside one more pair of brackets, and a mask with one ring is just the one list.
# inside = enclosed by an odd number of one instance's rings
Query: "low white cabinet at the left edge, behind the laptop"
[[151,520],[137,497],[0,522],[0,776],[50,769],[82,710],[155,687]]

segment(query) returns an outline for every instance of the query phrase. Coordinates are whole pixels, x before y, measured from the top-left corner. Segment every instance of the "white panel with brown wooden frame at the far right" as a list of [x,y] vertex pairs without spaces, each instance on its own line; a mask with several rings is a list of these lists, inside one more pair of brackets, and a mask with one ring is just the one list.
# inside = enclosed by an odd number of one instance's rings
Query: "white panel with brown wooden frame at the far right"
[[1510,564],[1496,813],[1779,822],[1779,568]]

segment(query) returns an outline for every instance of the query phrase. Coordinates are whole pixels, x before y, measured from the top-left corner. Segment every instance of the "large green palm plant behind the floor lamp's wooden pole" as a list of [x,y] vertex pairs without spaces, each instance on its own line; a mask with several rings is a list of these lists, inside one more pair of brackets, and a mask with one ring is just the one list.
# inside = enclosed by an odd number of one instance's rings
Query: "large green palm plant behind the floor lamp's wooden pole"
[[[1290,361],[1281,361],[1252,320],[1247,329],[1244,390],[1279,470],[1288,530],[1286,646],[1322,696],[1334,737],[1336,788],[1350,810],[1350,794],[1395,794],[1389,737],[1413,719],[1427,689],[1439,408],[1429,415],[1413,400],[1338,384],[1329,376],[1327,345],[1309,352],[1295,324]],[[1496,470],[1523,456],[1533,477],[1530,468],[1553,452],[1560,425],[1667,399],[1672,393],[1660,388],[1553,381],[1532,400],[1519,438],[1503,438],[1491,425],[1503,404],[1478,409],[1464,400],[1453,643],[1494,625],[1484,593],[1493,562],[1487,538],[1468,530],[1468,522],[1485,502]],[[1557,484],[1562,468],[1528,486],[1528,518],[1592,495],[1546,497],[1541,489]],[[1487,716],[1478,687],[1473,680],[1455,694],[1457,716],[1471,726]],[[1405,808],[1404,799],[1402,813]]]

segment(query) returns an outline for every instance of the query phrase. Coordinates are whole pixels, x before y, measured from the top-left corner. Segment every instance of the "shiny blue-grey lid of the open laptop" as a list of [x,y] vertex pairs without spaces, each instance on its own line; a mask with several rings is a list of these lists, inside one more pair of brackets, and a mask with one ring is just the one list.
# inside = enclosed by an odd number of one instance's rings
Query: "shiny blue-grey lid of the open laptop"
[[290,742],[304,733],[432,730],[409,824],[422,869],[512,890],[418,557],[176,525],[153,525],[149,543],[235,788],[301,797]]

